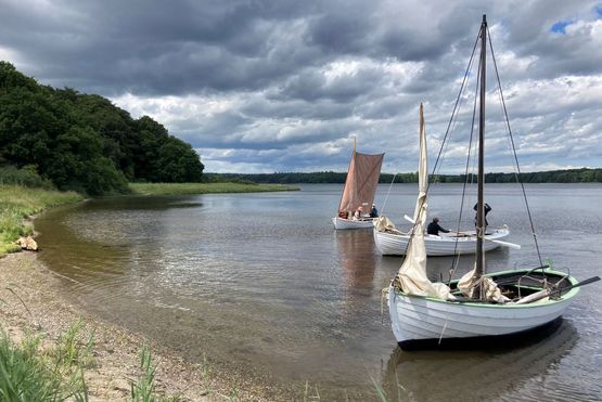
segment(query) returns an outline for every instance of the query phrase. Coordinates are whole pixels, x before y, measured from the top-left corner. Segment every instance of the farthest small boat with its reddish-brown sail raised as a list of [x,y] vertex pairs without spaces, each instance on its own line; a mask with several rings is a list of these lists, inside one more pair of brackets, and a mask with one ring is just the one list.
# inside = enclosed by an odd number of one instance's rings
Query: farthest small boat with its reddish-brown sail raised
[[335,229],[371,229],[374,217],[370,216],[374,194],[381,177],[381,167],[385,154],[368,155],[354,153],[347,170],[343,195],[338,203],[337,216],[332,218]]

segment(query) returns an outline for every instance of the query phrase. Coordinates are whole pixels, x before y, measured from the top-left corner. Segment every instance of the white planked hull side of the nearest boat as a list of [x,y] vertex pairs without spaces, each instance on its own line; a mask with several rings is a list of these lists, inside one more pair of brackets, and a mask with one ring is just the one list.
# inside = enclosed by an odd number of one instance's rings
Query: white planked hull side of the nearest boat
[[444,345],[445,339],[507,336],[537,328],[559,319],[577,293],[573,288],[559,300],[491,304],[407,296],[389,287],[388,308],[399,346],[423,340]]

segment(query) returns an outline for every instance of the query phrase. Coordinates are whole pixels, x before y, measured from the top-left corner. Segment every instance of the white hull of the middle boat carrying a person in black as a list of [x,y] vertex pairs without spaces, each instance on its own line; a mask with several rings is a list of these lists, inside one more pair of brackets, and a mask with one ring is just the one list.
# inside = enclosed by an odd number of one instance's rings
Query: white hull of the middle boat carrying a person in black
[[[485,238],[502,239],[510,234],[505,228],[489,231]],[[408,248],[410,235],[380,232],[374,229],[374,243],[383,256],[404,256]],[[447,233],[441,236],[425,235],[424,245],[427,256],[454,256],[457,254],[467,255],[476,252],[476,237],[452,237]],[[483,249],[490,251],[498,248],[499,244],[483,242]]]

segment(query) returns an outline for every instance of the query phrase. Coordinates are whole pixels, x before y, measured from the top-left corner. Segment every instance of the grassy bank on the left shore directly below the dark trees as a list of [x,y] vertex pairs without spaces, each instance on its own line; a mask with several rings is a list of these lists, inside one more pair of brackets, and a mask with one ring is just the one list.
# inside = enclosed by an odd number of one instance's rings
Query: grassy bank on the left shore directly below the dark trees
[[0,257],[20,250],[14,242],[33,233],[33,226],[26,221],[29,216],[48,207],[82,199],[82,195],[74,192],[0,185]]

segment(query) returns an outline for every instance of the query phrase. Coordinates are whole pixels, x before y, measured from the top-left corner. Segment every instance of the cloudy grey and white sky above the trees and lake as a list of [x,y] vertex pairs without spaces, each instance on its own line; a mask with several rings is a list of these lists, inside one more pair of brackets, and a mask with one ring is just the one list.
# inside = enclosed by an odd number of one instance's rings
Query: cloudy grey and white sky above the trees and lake
[[[409,172],[419,104],[434,159],[484,13],[521,169],[602,167],[600,1],[0,0],[0,59],[153,117],[208,172],[345,171],[354,138]],[[512,171],[494,83],[487,170]]]

